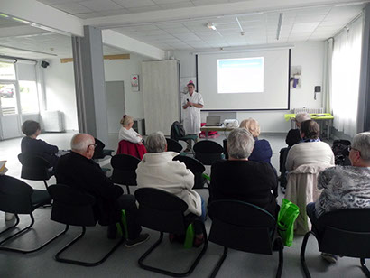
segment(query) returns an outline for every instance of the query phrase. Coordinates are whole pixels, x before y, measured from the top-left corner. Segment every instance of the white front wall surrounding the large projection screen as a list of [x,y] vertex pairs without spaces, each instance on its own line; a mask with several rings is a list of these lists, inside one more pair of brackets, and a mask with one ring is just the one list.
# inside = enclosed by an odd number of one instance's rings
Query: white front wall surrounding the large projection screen
[[[174,51],[176,59],[180,60],[181,78],[196,75],[195,56],[190,51]],[[302,86],[300,89],[291,89],[291,109],[300,107],[322,107],[322,93],[314,100],[314,87],[322,87],[324,68],[324,42],[300,42],[295,43],[291,50],[291,66],[301,66]],[[201,92],[200,92],[201,93]],[[205,109],[207,109],[207,99]],[[247,117],[254,117],[261,125],[262,132],[287,132],[291,125],[285,122],[284,114],[288,111],[261,111],[261,112],[237,112],[239,122]],[[208,112],[202,112],[202,122]]]

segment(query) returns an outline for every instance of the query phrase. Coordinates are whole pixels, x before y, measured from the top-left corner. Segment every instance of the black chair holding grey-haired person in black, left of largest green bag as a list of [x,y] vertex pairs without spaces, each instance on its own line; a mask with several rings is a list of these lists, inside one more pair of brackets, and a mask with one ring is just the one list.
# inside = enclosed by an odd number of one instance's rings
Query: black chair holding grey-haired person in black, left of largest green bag
[[224,246],[224,254],[210,277],[216,277],[227,258],[228,248],[272,255],[274,245],[279,247],[276,277],[282,276],[282,238],[277,236],[276,220],[269,212],[242,201],[215,200],[208,205],[208,214],[212,219],[209,241]]

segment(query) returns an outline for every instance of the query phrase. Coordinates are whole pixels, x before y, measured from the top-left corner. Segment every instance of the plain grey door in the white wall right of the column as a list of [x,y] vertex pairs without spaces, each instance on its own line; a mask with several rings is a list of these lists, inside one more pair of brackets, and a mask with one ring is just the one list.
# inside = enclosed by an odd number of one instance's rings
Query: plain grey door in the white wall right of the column
[[108,116],[108,133],[118,134],[119,121],[125,115],[124,81],[106,82],[106,111]]

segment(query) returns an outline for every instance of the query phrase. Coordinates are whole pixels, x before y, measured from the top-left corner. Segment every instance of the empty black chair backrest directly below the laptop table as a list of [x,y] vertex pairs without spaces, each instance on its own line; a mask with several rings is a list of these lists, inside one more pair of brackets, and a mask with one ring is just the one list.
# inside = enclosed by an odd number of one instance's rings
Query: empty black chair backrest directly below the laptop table
[[214,141],[199,141],[194,144],[193,149],[195,153],[194,158],[198,159],[204,165],[212,165],[213,162],[223,159],[222,153],[224,153],[224,148]]

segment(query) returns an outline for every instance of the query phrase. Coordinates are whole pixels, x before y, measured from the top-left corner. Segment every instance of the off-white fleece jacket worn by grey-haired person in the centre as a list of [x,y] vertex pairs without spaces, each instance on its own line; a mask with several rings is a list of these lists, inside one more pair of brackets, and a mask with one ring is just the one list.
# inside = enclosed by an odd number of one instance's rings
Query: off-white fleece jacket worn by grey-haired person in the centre
[[188,213],[201,215],[201,199],[192,190],[194,175],[184,163],[172,161],[179,153],[145,153],[136,169],[137,187],[154,188],[169,192],[188,204]]

